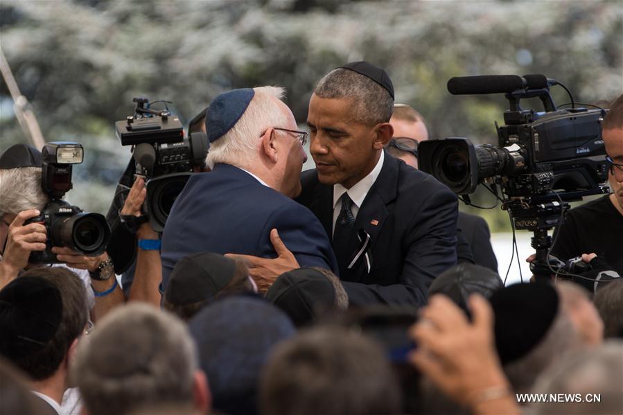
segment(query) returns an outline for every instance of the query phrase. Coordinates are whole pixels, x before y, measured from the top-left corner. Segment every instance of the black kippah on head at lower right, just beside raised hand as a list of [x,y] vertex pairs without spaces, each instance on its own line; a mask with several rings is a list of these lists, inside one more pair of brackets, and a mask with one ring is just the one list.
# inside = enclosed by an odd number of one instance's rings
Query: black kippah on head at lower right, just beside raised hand
[[502,364],[527,355],[550,330],[559,297],[549,283],[509,285],[491,296],[495,315],[495,346]]

